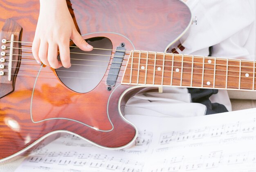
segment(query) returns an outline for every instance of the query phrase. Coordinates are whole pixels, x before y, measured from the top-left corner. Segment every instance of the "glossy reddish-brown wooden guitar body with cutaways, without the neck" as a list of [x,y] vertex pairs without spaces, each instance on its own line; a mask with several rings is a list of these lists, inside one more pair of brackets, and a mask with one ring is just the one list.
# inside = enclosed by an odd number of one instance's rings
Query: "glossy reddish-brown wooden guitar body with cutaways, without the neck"
[[[12,18],[11,22],[22,27],[21,41],[32,42],[39,1],[1,0],[1,4],[0,27],[7,18]],[[68,6],[85,40],[101,47],[97,38],[107,38],[110,49],[114,50],[99,81],[81,92],[70,89],[68,81],[61,80],[61,73],[32,63],[31,51],[22,50],[14,91],[0,98],[0,161],[25,152],[56,132],[76,134],[100,147],[130,145],[137,133],[135,126],[123,117],[125,103],[130,97],[155,87],[121,85],[129,52],[133,49],[164,52],[191,23],[191,12],[180,0],[163,0],[157,4],[154,0],[71,0]],[[125,44],[127,53],[115,86],[109,89],[106,80],[115,49],[121,43]],[[21,43],[21,48],[31,49],[31,44]],[[90,85],[92,80],[89,78],[86,83]]]

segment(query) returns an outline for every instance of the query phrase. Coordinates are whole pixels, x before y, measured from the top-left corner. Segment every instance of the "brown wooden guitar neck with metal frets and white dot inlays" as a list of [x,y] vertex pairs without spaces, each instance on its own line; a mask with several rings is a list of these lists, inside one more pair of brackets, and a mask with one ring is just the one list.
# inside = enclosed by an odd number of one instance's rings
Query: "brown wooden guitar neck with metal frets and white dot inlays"
[[255,62],[131,51],[121,84],[254,90]]

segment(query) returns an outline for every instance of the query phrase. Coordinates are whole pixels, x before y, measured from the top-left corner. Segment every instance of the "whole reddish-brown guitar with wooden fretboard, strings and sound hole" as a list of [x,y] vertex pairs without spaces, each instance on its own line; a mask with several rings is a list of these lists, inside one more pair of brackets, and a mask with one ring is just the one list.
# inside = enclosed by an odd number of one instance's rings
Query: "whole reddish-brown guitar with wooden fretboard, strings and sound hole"
[[124,148],[137,135],[123,116],[126,102],[162,86],[254,90],[252,61],[166,53],[192,22],[180,0],[67,4],[94,49],[71,41],[72,67],[55,70],[31,53],[38,0],[1,0],[0,161],[57,132]]

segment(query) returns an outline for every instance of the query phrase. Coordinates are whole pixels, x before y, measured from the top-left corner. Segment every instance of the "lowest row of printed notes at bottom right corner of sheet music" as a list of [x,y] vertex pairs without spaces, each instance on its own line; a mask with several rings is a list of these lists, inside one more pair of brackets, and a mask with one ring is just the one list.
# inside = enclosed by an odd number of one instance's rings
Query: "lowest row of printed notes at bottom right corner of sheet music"
[[[252,165],[256,169],[256,152],[224,153],[225,151],[210,152],[186,158],[184,155],[173,156],[171,159],[162,159],[161,165],[150,170],[150,172],[176,172],[176,171],[214,171],[220,166],[227,166],[246,170],[246,165]],[[159,162],[158,162],[159,163]],[[236,171],[236,170],[235,170]],[[239,171],[239,170],[238,170]]]

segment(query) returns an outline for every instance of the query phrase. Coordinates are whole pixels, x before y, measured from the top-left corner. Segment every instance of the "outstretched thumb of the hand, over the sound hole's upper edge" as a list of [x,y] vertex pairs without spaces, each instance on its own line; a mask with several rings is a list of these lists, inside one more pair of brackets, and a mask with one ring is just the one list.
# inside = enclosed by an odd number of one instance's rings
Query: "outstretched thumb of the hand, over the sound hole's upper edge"
[[89,45],[83,38],[82,36],[79,34],[78,31],[74,30],[72,32],[71,38],[73,40],[73,42],[75,43],[75,45],[77,47],[79,47],[81,50],[83,51],[92,51],[93,47],[92,45]]

